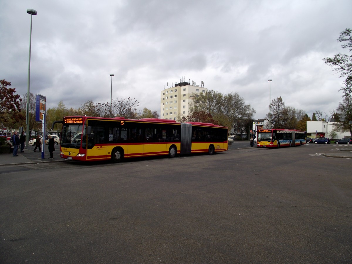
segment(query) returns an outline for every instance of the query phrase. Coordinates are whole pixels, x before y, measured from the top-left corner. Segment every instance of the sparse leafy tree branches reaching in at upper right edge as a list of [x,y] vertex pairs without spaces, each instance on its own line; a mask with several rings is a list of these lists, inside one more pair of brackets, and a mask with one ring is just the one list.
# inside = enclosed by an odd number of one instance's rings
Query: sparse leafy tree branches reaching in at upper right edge
[[[352,37],[351,29],[345,29],[340,33],[337,42],[344,43],[341,45],[342,49],[348,48],[352,51]],[[352,55],[336,54],[333,58],[323,58],[323,61],[333,68],[333,71],[340,73],[340,77],[346,77],[344,84],[340,90],[343,91],[344,96],[350,95],[352,92]]]

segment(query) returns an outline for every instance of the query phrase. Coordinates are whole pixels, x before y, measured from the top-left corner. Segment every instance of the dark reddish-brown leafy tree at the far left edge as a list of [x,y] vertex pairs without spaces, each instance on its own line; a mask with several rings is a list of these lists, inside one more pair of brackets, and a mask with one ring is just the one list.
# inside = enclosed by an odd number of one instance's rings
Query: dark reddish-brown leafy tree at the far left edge
[[14,128],[19,126],[24,116],[20,113],[21,97],[16,88],[10,88],[11,82],[0,80],[0,123],[1,126]]

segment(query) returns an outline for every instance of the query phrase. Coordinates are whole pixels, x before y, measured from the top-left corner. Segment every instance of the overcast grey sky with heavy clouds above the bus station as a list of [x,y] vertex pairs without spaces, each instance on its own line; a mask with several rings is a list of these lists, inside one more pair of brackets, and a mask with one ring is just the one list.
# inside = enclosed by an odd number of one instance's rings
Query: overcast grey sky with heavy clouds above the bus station
[[237,92],[264,118],[271,99],[329,113],[342,78],[323,63],[352,27],[351,0],[14,0],[0,1],[0,79],[47,107],[135,98],[160,111],[160,91],[182,76]]

